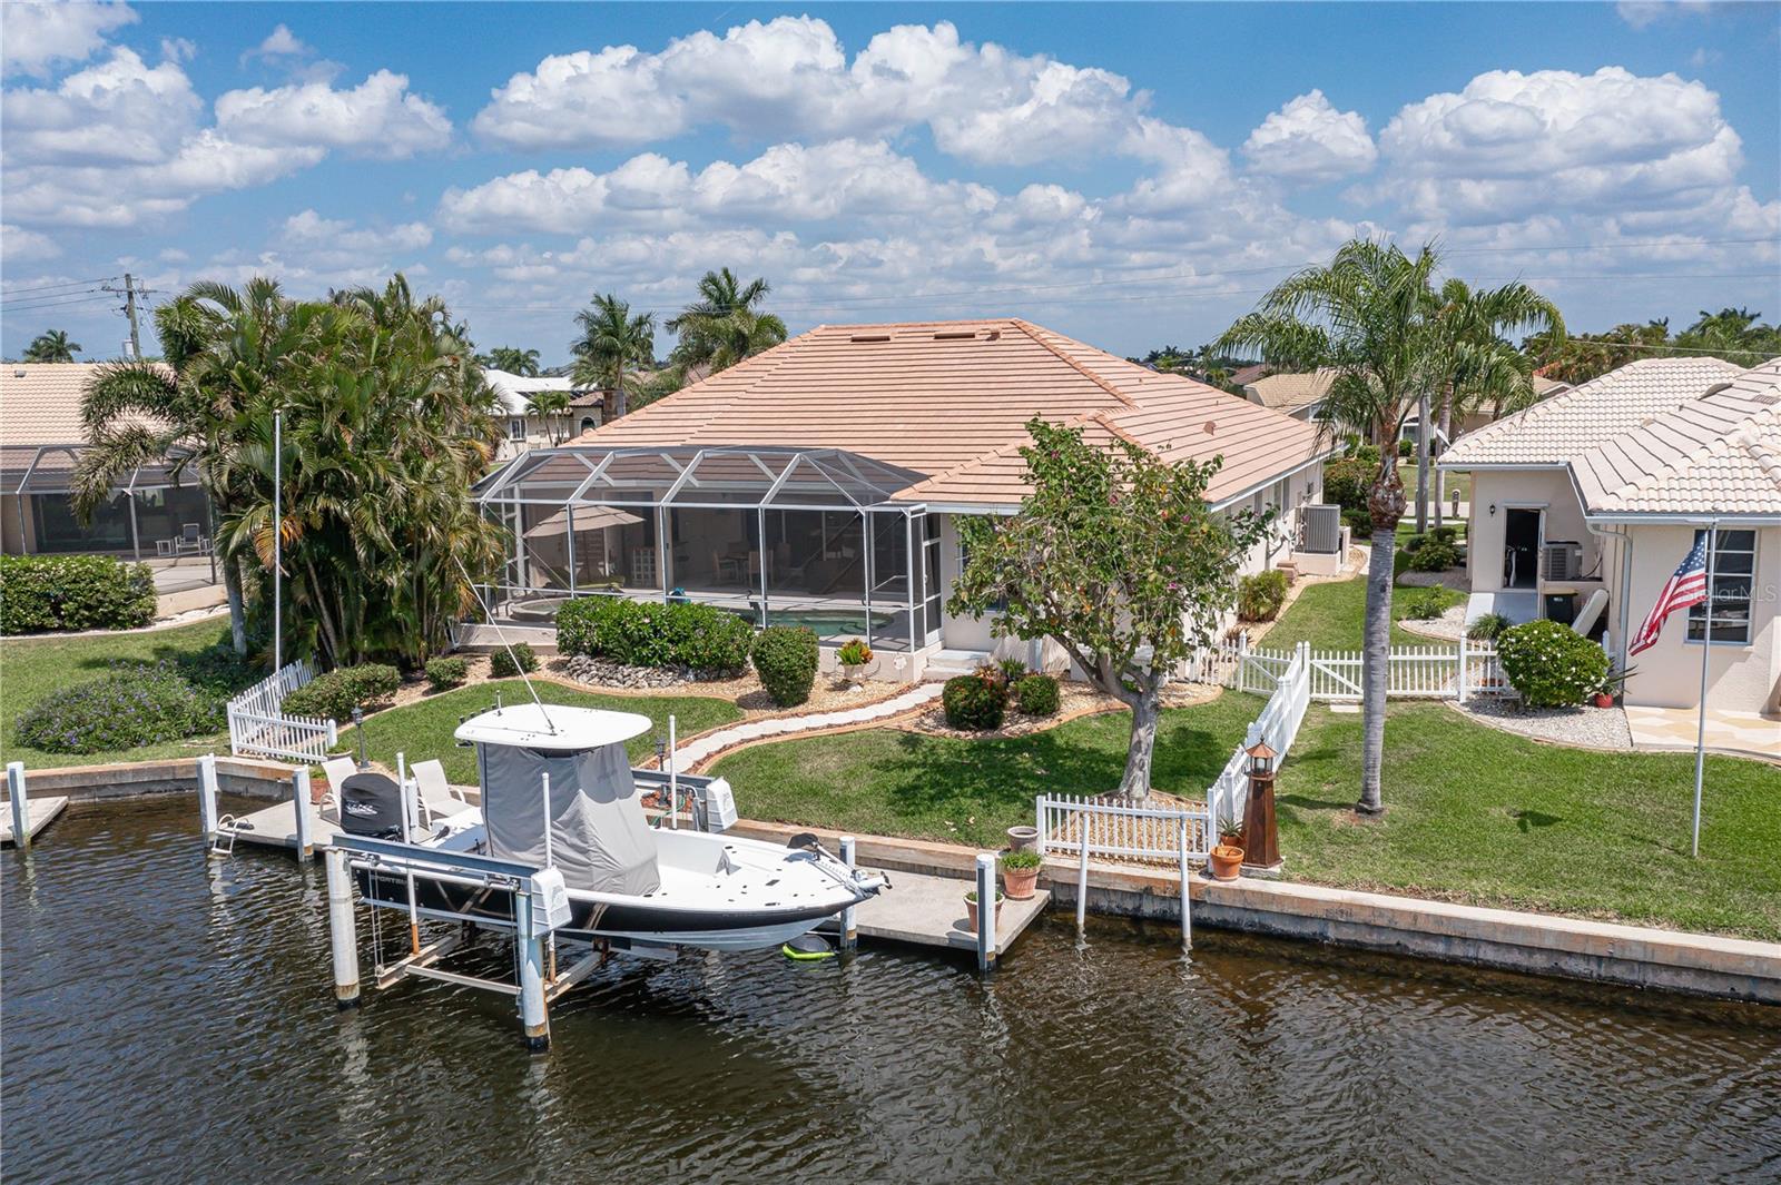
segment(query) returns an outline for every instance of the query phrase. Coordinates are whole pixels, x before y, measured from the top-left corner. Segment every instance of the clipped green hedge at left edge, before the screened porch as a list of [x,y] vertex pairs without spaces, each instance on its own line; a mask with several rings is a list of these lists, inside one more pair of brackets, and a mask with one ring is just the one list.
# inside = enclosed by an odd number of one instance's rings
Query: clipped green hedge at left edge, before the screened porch
[[153,619],[148,564],[110,555],[0,555],[0,633],[132,630]]

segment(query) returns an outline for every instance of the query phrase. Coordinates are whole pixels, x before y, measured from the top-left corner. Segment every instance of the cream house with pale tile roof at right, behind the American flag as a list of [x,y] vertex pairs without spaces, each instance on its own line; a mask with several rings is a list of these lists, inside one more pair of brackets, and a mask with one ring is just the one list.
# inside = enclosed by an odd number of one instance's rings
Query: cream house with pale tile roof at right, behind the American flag
[[[1462,436],[1441,468],[1471,473],[1468,616],[1582,612],[1615,665],[1717,521],[1710,701],[1781,712],[1781,359],[1635,361]],[[1681,617],[1631,657],[1626,703],[1699,703],[1706,607]]]

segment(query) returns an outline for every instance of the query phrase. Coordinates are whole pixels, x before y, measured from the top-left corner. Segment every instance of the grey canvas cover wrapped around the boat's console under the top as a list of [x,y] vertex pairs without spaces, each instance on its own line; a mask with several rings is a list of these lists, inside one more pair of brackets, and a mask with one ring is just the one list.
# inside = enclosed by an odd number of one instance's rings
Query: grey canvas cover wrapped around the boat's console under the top
[[550,861],[570,888],[641,897],[661,888],[655,836],[638,802],[625,746],[543,753],[483,751],[483,820],[490,856],[545,863],[541,776],[550,774]]

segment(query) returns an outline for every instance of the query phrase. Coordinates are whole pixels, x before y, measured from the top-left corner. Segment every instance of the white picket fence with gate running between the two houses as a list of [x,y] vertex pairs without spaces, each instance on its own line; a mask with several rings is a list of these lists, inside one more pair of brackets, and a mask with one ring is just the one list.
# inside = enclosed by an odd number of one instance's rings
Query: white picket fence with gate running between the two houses
[[[1366,660],[1357,649],[1250,649],[1238,644],[1209,648],[1197,657],[1188,676],[1241,692],[1272,692],[1295,657],[1304,655],[1311,697],[1325,703],[1357,703]],[[1386,657],[1386,696],[1393,699],[1466,699],[1507,689],[1503,667],[1491,642],[1459,641],[1452,646],[1393,646]]]

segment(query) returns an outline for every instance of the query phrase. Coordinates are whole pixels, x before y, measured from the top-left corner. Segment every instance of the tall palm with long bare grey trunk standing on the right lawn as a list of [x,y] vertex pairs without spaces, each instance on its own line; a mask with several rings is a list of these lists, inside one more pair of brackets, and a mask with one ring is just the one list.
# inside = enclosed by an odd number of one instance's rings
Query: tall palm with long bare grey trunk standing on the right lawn
[[[1259,349],[1270,363],[1327,367],[1336,372],[1320,431],[1343,427],[1389,445],[1418,399],[1430,390],[1434,331],[1430,279],[1439,265],[1432,246],[1414,256],[1380,240],[1345,244],[1325,267],[1309,267],[1281,281],[1254,313],[1218,340],[1222,352]],[[1373,543],[1366,573],[1362,662],[1361,799],[1355,811],[1378,815],[1380,763],[1386,753],[1386,681],[1391,642],[1391,560],[1403,482],[1395,448],[1380,448],[1378,473],[1368,489]]]

